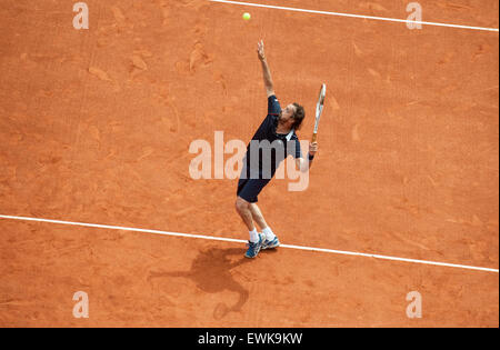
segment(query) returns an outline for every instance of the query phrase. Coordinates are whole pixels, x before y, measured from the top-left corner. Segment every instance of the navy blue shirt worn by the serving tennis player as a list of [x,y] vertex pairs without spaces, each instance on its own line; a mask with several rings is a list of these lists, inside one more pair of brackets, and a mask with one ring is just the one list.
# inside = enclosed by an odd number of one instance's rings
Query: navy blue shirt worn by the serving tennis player
[[[270,180],[288,154],[296,159],[302,158],[299,138],[294,130],[288,134],[276,132],[280,113],[281,107],[277,97],[269,97],[268,114],[248,144],[243,160],[243,173],[247,172],[250,179]],[[257,153],[259,156],[254,157]]]

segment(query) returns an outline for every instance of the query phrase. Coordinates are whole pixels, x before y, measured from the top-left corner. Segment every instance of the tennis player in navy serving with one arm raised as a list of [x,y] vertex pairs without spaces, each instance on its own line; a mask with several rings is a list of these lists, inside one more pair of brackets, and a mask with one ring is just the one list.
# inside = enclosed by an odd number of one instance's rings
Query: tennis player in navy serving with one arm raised
[[[238,182],[236,209],[250,233],[248,250],[244,254],[247,258],[256,258],[261,249],[273,249],[280,246],[278,237],[257,206],[259,193],[272,179],[279,163],[288,154],[296,159],[296,167],[306,172],[309,171],[318,151],[318,143],[313,142],[309,146],[309,161],[302,158],[296,130],[300,129],[306,117],[304,109],[298,103],[291,103],[284,110],[281,109],[274,93],[262,40],[258,43],[257,53],[262,66],[268,94],[268,114],[247,148],[243,171]],[[254,223],[260,227],[262,233],[257,231]]]

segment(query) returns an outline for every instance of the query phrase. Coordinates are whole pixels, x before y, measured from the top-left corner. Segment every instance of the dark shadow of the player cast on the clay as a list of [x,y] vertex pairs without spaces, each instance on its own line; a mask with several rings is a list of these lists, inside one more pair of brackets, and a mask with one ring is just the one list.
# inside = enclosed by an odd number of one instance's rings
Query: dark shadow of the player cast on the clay
[[[192,261],[191,270],[189,271],[151,271],[148,280],[157,278],[189,278],[199,289],[208,293],[218,293],[229,290],[238,293],[238,301],[233,306],[226,306],[219,303],[213,317],[221,319],[229,312],[239,312],[244,303],[248,301],[249,291],[244,289],[236,279],[231,270],[250,261],[243,257],[241,249],[220,249],[210,248],[200,251],[197,258]],[[231,258],[234,257],[234,258]]]

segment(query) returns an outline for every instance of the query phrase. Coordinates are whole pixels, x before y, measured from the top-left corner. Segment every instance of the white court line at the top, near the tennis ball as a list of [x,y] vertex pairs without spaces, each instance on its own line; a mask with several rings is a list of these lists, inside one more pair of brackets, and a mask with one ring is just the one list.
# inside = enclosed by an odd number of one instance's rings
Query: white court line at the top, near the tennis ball
[[493,31],[493,32],[498,32],[499,31],[498,28],[470,27],[470,26],[448,24],[448,23],[438,23],[438,22],[426,22],[426,21],[410,21],[410,20],[402,20],[402,19],[396,19],[396,18],[386,18],[386,17],[376,17],[376,16],[362,16],[362,14],[351,14],[351,13],[340,13],[340,12],[329,12],[329,11],[318,11],[318,10],[306,10],[306,9],[281,7],[281,6],[252,3],[252,2],[229,1],[229,0],[209,0],[209,1],[228,3],[228,4],[240,4],[240,6],[248,6],[248,7],[276,9],[276,10],[307,12],[307,13],[316,13],[316,14],[328,14],[328,16],[339,16],[339,17],[350,17],[350,18],[362,18],[362,19],[370,19],[370,20],[378,20],[378,21],[388,21],[388,22],[413,23],[413,24],[424,24],[424,26],[434,26],[434,27],[450,27],[450,28],[483,30],[483,31]]

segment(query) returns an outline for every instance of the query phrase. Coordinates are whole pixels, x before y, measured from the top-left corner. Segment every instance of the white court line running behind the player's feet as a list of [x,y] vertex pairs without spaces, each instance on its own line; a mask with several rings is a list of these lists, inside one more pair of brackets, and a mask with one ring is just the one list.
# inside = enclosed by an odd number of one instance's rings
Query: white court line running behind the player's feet
[[[189,234],[189,233],[176,233],[176,232],[167,232],[167,231],[159,231],[159,230],[146,230],[146,229],[136,229],[136,228],[126,228],[126,227],[109,226],[109,224],[83,223],[83,222],[71,222],[71,221],[49,220],[49,219],[38,219],[38,218],[26,218],[26,217],[11,217],[11,216],[0,216],[0,219],[48,222],[48,223],[80,226],[80,227],[109,229],[109,230],[123,230],[123,231],[144,232],[144,233],[173,236],[173,237],[198,238],[198,239],[226,241],[226,242],[237,242],[237,243],[246,243],[247,242],[244,240],[232,239],[232,238]],[[342,250],[311,248],[311,247],[301,247],[301,246],[289,246],[289,244],[281,244],[280,248],[300,249],[300,250],[319,251],[319,252],[342,254],[342,256],[356,256],[356,257],[374,258],[374,259],[382,259],[382,260],[422,263],[422,264],[431,264],[431,266],[439,266],[439,267],[459,268],[459,269],[467,269],[467,270],[477,270],[477,271],[487,271],[487,272],[499,273],[498,269],[478,268],[478,267],[471,267],[471,266],[464,266],[464,264],[426,261],[426,260],[416,260],[416,259],[406,259],[406,258],[387,257],[387,256],[379,256],[379,254],[368,254],[368,253],[360,253],[360,252],[353,252],[353,251],[342,251]]]

